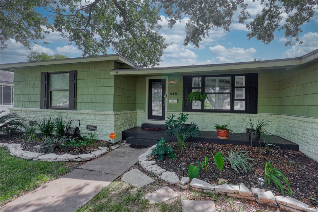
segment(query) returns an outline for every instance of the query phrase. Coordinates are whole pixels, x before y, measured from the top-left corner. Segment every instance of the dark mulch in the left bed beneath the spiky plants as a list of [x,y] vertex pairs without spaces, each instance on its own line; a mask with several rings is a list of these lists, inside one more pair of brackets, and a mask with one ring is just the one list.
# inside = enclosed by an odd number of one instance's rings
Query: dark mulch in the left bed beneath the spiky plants
[[[16,143],[16,144],[22,144],[25,143],[24,150],[30,151],[30,152],[39,152],[39,153],[48,153],[47,151],[42,152],[40,149],[34,148],[34,146],[40,145],[44,143],[45,139],[43,136],[40,134],[37,135],[41,141],[38,140],[31,140],[29,143],[25,142],[26,138],[21,137],[23,133],[12,133],[12,134],[1,134],[1,143]],[[98,150],[98,147],[108,147],[110,148],[114,144],[108,141],[103,141],[103,140],[95,140],[92,146],[82,146],[78,145],[76,147],[67,147],[65,150],[58,148],[54,149],[54,152],[50,153],[55,153],[55,154],[73,154],[73,155],[78,155],[78,154],[87,154],[89,152],[93,152]]]

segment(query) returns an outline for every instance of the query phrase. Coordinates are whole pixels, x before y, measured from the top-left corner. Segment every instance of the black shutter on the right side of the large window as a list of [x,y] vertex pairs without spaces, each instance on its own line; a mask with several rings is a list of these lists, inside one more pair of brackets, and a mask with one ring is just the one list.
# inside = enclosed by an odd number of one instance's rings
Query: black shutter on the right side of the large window
[[246,113],[257,113],[257,86],[258,73],[251,73],[246,75]]

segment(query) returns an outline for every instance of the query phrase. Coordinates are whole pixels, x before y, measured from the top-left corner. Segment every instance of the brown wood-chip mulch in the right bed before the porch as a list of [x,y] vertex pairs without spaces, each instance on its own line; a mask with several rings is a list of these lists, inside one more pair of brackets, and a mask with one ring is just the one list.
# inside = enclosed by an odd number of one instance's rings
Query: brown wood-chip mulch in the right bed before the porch
[[[176,151],[176,159],[164,158],[163,161],[154,160],[158,166],[173,171],[178,176],[182,176],[181,164],[186,164],[184,175],[187,176],[187,169],[189,164],[197,165],[197,161],[204,161],[206,155],[209,159],[212,154],[221,151],[223,157],[228,156],[228,151],[236,147],[235,145],[225,144],[211,144],[211,143],[192,143],[187,142],[187,149],[182,151],[178,148],[177,143],[169,143]],[[254,168],[249,173],[237,173],[228,165],[224,165],[223,170],[220,172],[214,164],[213,158],[209,162],[213,172],[218,178],[228,179],[230,184],[244,183],[247,187],[259,187],[257,179],[259,177],[264,179],[264,166],[266,161],[270,161],[274,168],[279,168],[289,180],[291,189],[295,194],[292,197],[305,202],[306,204],[318,206],[318,163],[300,151],[293,150],[274,150],[271,149],[269,153],[263,147],[249,147],[239,145],[237,151],[249,151],[248,157],[254,159],[252,163]],[[197,177],[200,180],[209,183],[217,183],[218,180],[211,171],[204,172],[201,168],[200,174]],[[274,183],[265,188],[271,190],[275,195],[281,195]],[[285,193],[285,196],[287,193]],[[309,199],[309,197],[312,197]]]

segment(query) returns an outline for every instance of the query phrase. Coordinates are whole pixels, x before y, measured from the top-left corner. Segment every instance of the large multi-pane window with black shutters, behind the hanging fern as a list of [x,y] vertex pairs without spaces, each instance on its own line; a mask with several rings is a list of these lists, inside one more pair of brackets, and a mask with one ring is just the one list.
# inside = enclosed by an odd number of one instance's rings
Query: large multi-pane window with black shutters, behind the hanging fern
[[[183,111],[257,113],[258,74],[205,75],[183,77]],[[198,81],[198,82],[197,82]],[[203,91],[208,98],[203,104],[186,104],[193,91]]]

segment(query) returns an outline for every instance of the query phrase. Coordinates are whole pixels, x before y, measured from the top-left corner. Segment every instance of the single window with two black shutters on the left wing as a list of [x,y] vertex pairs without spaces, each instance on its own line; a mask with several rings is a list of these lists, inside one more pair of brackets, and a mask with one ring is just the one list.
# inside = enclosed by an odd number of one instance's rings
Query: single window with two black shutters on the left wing
[[76,71],[41,73],[41,109],[76,110]]

